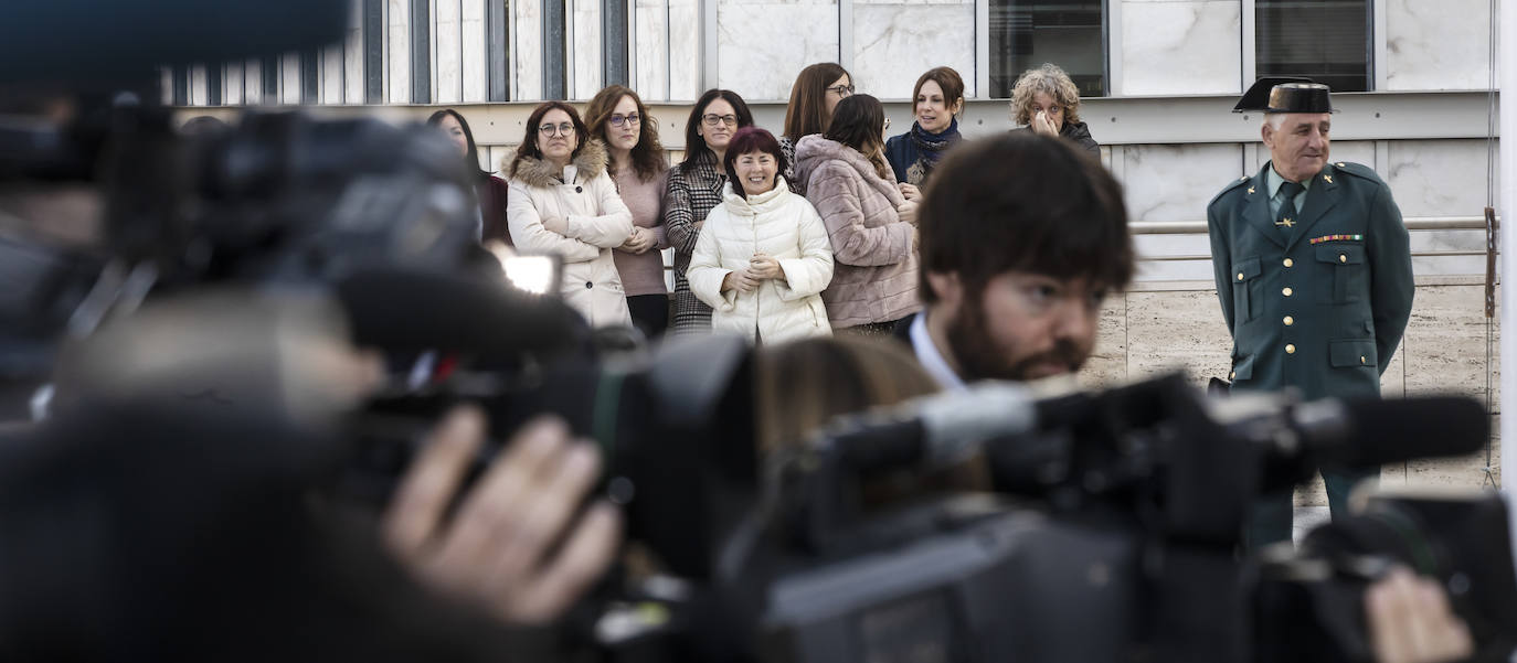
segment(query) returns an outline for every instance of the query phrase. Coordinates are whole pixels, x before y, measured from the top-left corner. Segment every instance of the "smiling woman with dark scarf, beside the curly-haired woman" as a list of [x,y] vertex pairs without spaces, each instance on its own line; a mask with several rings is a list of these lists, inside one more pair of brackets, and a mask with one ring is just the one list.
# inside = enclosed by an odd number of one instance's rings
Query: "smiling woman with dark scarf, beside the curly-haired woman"
[[963,77],[948,67],[934,67],[916,79],[912,90],[916,123],[912,130],[890,137],[884,143],[884,158],[895,171],[895,181],[909,200],[918,197],[916,188],[927,182],[944,153],[957,144],[959,115],[963,111]]

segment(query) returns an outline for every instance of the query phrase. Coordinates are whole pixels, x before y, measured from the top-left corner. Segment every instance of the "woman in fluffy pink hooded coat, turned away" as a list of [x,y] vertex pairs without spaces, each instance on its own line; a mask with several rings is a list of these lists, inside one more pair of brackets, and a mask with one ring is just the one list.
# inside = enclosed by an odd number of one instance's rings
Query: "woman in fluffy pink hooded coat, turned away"
[[837,103],[827,132],[801,138],[796,176],[833,243],[822,291],[833,329],[889,335],[916,300],[916,202],[884,161],[884,106],[868,94]]

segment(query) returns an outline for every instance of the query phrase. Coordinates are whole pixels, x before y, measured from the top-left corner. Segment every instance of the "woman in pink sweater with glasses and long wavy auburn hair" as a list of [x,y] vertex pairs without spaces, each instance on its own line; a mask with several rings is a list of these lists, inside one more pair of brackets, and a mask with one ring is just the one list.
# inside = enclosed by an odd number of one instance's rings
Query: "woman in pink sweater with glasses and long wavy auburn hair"
[[669,328],[669,288],[664,285],[663,194],[669,162],[658,143],[658,123],[648,117],[648,106],[623,85],[601,90],[584,109],[590,137],[605,143],[611,153],[611,181],[622,202],[633,212],[633,235],[611,253],[627,290],[633,325],[648,338]]

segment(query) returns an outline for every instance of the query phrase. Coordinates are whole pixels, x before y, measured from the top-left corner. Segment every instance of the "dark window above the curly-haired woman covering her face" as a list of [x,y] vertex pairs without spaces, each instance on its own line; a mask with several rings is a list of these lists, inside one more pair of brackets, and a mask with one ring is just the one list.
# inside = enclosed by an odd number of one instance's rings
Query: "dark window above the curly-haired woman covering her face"
[[1016,77],[1044,62],[1062,67],[1082,97],[1106,96],[1103,0],[991,0],[992,97],[1010,97]]

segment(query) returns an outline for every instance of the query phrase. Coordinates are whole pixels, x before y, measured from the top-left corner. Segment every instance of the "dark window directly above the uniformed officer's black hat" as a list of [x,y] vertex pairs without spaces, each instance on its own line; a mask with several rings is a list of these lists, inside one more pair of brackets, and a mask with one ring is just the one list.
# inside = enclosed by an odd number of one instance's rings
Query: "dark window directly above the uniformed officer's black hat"
[[1365,0],[1255,0],[1255,73],[1367,91],[1371,20]]

